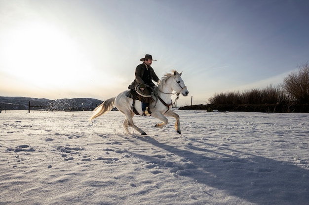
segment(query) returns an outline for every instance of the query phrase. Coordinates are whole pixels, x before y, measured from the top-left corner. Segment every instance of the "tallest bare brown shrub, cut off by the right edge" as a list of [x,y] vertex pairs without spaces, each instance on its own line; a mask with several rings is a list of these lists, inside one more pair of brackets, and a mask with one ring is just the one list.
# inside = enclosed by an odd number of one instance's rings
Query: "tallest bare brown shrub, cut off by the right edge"
[[283,87],[299,104],[309,103],[309,64],[299,66],[298,72],[292,72],[284,78]]

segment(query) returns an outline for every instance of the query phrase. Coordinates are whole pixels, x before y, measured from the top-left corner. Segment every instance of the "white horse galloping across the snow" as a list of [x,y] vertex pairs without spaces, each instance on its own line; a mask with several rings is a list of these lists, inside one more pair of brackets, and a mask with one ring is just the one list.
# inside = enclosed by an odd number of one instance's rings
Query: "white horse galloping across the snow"
[[[174,90],[177,92],[177,95],[181,93],[183,96],[188,96],[189,91],[181,78],[182,73],[178,73],[176,70],[173,70],[172,72],[173,73],[165,74],[161,79],[161,82],[158,84],[158,94],[152,97],[154,102],[150,104],[150,111],[152,112],[152,117],[158,118],[162,121],[162,123],[157,123],[155,125],[155,127],[159,128],[163,128],[168,122],[168,119],[164,116],[175,117],[175,129],[177,133],[181,134],[179,115],[174,113],[171,109],[173,104],[171,95],[176,94],[173,93]],[[95,117],[99,117],[116,107],[126,117],[123,122],[123,126],[127,133],[129,133],[128,126],[131,126],[142,135],[146,135],[146,133],[141,128],[137,127],[133,122],[133,116],[135,115],[132,110],[133,99],[127,96],[127,92],[129,91],[123,91],[116,97],[105,100],[101,105],[94,109],[93,115],[89,119],[92,120]],[[138,113],[143,112],[140,101],[136,100],[134,107]]]

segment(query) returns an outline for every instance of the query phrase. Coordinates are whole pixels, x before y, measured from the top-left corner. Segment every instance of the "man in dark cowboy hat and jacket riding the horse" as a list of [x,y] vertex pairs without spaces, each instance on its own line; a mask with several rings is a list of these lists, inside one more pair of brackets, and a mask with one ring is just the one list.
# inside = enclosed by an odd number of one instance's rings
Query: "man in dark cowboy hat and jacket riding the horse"
[[[139,64],[135,69],[135,79],[129,86],[129,89],[135,90],[135,87],[140,84],[140,90],[143,92],[144,89],[147,86],[154,87],[153,80],[155,82],[159,82],[159,78],[154,73],[154,69],[151,67],[151,64],[153,63],[153,57],[152,55],[146,54],[145,58],[142,58],[141,61],[143,61],[142,64]],[[147,112],[145,114],[147,108]],[[147,114],[151,114],[149,110],[149,103],[146,103],[145,100],[142,100],[142,111],[143,116],[146,116]]]

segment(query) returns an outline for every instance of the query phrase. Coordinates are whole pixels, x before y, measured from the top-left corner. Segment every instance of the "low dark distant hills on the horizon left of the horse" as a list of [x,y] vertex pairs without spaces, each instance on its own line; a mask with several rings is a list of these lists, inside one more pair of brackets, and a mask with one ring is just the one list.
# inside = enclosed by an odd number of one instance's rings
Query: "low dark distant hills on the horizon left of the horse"
[[55,111],[92,111],[103,101],[93,98],[73,98],[49,100],[32,97],[1,97],[1,110],[55,110]]

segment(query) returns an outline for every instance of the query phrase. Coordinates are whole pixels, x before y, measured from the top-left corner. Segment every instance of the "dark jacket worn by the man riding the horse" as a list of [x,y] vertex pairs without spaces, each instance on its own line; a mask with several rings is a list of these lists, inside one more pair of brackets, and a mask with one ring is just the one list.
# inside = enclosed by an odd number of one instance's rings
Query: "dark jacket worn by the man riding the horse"
[[[134,81],[131,83],[131,85],[129,86],[129,89],[135,89],[135,87],[138,85],[138,84],[147,84],[145,83],[145,80],[143,79],[143,75],[144,75],[144,72],[146,70],[146,64],[145,63],[142,63],[140,65],[138,65],[135,69],[135,79]],[[148,67],[149,71],[150,71],[150,76],[151,76],[151,79],[154,80],[155,82],[158,82],[159,81],[159,78],[156,76],[156,74],[154,73],[154,69],[149,66]],[[154,83],[151,82],[150,84],[147,84],[151,87],[154,87]]]

